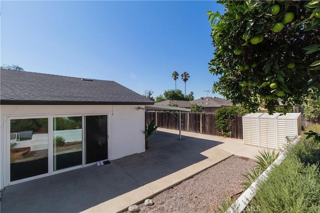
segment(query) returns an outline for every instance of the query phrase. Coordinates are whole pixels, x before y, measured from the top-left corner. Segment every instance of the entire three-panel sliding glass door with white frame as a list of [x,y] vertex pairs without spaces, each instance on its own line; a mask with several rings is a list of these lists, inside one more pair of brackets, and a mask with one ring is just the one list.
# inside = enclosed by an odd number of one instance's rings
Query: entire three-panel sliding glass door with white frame
[[7,128],[8,184],[108,159],[106,114],[8,116]]

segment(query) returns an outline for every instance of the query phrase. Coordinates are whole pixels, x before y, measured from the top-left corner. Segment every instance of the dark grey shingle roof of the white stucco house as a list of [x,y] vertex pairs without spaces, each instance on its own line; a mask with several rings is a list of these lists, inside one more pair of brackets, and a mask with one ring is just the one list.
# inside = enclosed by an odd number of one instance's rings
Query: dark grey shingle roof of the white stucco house
[[0,71],[1,104],[153,104],[153,101],[114,81],[3,69]]

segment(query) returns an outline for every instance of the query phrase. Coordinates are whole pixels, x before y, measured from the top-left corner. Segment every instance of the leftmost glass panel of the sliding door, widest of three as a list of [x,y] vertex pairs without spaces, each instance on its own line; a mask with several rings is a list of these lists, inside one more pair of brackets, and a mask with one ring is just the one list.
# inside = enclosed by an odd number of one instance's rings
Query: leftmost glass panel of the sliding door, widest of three
[[48,173],[48,119],[10,120],[10,181]]

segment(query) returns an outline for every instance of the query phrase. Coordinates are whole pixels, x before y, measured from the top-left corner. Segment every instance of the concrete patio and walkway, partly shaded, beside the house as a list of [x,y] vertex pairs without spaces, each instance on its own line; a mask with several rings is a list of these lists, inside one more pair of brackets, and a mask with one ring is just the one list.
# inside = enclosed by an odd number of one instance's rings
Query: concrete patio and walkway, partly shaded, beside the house
[[114,213],[223,161],[231,155],[253,158],[263,148],[242,140],[158,129],[149,147],[161,153],[139,160],[90,166],[9,186],[1,213]]

